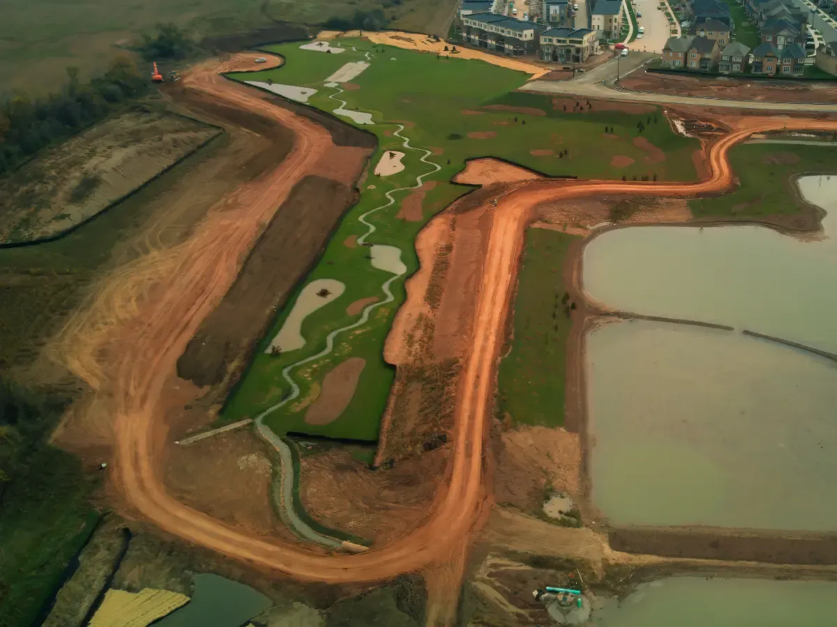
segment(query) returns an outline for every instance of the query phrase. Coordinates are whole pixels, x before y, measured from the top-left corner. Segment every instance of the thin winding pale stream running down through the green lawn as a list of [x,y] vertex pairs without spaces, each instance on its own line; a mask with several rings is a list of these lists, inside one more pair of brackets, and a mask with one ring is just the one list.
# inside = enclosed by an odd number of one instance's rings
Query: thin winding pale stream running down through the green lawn
[[[329,98],[341,102],[341,108],[345,107],[347,104],[346,101],[335,97],[337,94],[342,94],[343,90],[340,88],[334,89],[335,93],[329,95]],[[433,175],[442,169],[441,166],[435,164],[433,161],[427,161],[427,158],[433,154],[432,150],[424,150],[423,148],[416,148],[414,146],[411,146],[409,138],[405,137],[404,135],[401,135],[401,131],[404,130],[404,126],[400,124],[397,126],[398,130],[393,131],[393,136],[398,137],[398,139],[400,140],[403,140],[401,144],[403,148],[406,148],[408,150],[419,150],[420,152],[424,152],[424,155],[422,155],[419,161],[422,161],[423,163],[426,163],[429,166],[433,166],[434,169],[425,172],[422,175],[416,176],[416,184],[413,186],[398,187],[396,189],[387,191],[384,194],[384,196],[387,197],[387,202],[385,202],[383,205],[376,206],[373,209],[370,209],[369,211],[363,213],[360,217],[357,218],[358,222],[361,222],[365,227],[367,227],[367,232],[365,232],[361,237],[357,238],[357,243],[361,246],[367,241],[367,238],[375,232],[375,226],[371,222],[367,222],[367,217],[371,216],[373,213],[377,213],[382,211],[383,209],[386,209],[388,206],[393,206],[396,203],[396,200],[393,196],[394,192],[417,189],[424,185],[424,178],[426,176]],[[366,324],[369,320],[369,315],[372,314],[373,310],[387,303],[392,303],[395,297],[393,296],[390,286],[399,278],[402,278],[406,273],[406,267],[403,267],[403,270],[399,273],[393,273],[393,276],[388,278],[381,286],[381,290],[383,291],[385,298],[383,298],[383,300],[377,301],[376,303],[367,305],[367,307],[363,309],[363,314],[360,317],[360,319],[357,319],[356,322],[348,324],[345,327],[341,327],[340,329],[335,329],[331,331],[331,333],[326,336],[325,349],[322,349],[317,354],[313,354],[309,357],[306,357],[305,359],[300,359],[299,361],[296,361],[295,363],[286,366],[285,369],[282,370],[282,377],[285,379],[285,381],[287,381],[290,384],[290,395],[286,396],[284,399],[280,400],[280,402],[276,403],[275,405],[271,405],[270,407],[268,407],[266,410],[257,415],[254,420],[256,431],[259,434],[259,436],[261,436],[264,439],[264,441],[269,442],[270,445],[276,449],[276,451],[279,451],[281,460],[280,502],[277,502],[277,506],[279,512],[281,513],[283,522],[286,525],[288,525],[288,527],[298,537],[303,538],[305,540],[310,540],[311,542],[316,542],[328,548],[341,548],[344,545],[341,540],[323,535],[322,533],[319,533],[315,529],[311,528],[311,526],[305,521],[303,521],[295,511],[293,500],[295,469],[293,464],[293,456],[290,451],[290,446],[285,442],[283,438],[277,436],[275,432],[270,429],[269,426],[264,425],[264,418],[272,414],[275,410],[280,409],[280,407],[290,403],[291,400],[295,400],[300,395],[300,387],[290,376],[291,371],[295,370],[296,368],[299,368],[301,365],[308,364],[311,361],[315,361],[316,359],[321,359],[322,357],[325,357],[327,354],[331,353],[331,351],[334,349],[334,339],[337,335],[345,333],[346,331],[350,331],[352,329],[356,329],[362,324]]]

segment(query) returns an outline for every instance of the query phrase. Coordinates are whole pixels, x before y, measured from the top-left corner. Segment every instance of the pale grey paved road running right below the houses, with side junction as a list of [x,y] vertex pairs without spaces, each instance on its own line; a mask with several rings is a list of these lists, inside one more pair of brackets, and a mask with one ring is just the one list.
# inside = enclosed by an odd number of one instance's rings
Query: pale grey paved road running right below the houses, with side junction
[[[653,54],[632,52],[619,59],[619,75],[639,68]],[[523,85],[523,91],[542,94],[567,94],[583,98],[600,100],[622,100],[624,102],[650,102],[653,104],[694,104],[697,106],[728,107],[730,109],[755,109],[765,111],[810,111],[837,113],[837,104],[813,104],[792,102],[757,102],[754,100],[722,100],[698,98],[697,96],[677,96],[673,94],[650,94],[643,91],[615,89],[612,84],[616,78],[617,59],[601,64],[587,74],[573,80],[533,80]]]

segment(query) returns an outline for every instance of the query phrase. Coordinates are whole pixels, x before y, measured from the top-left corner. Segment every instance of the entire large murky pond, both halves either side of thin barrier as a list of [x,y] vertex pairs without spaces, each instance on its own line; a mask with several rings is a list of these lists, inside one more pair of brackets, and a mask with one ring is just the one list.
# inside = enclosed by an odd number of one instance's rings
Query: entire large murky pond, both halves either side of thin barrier
[[[837,177],[801,181],[837,232]],[[593,504],[612,523],[837,529],[837,242],[763,227],[639,227],[584,257],[593,298],[642,320],[587,339]]]

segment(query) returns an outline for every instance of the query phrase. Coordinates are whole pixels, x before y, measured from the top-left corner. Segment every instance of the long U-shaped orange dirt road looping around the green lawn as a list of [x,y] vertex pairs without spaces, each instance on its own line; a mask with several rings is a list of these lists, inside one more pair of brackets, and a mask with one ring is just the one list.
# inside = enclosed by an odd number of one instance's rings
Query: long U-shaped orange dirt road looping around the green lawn
[[[732,186],[727,150],[753,132],[773,129],[827,128],[837,123],[815,120],[742,120],[752,124],[727,135],[710,153],[711,178],[697,183],[624,183],[619,181],[531,181],[499,199],[494,210],[483,283],[475,314],[473,349],[463,373],[456,409],[455,449],[448,477],[424,521],[407,536],[358,555],[327,555],[291,544],[268,542],[219,522],[169,496],[159,471],[159,440],[164,434],[162,392],[175,375],[198,324],[234,282],[239,263],[258,236],[259,223],[270,218],[294,183],[304,176],[327,146],[329,135],[308,120],[265,103],[259,93],[218,77],[234,61],[204,64],[184,79],[192,89],[279,121],[295,133],[295,145],[268,181],[241,186],[219,201],[195,235],[173,254],[167,276],[149,291],[139,314],[121,340],[100,356],[104,380],[97,390],[110,396],[116,415],[116,485],[136,512],[159,528],[233,558],[274,568],[300,579],[326,582],[375,581],[445,563],[462,553],[463,543],[487,502],[483,440],[494,394],[495,366],[503,341],[523,233],[531,207],[547,199],[600,193],[638,196],[692,196]],[[458,586],[449,590],[451,599]]]

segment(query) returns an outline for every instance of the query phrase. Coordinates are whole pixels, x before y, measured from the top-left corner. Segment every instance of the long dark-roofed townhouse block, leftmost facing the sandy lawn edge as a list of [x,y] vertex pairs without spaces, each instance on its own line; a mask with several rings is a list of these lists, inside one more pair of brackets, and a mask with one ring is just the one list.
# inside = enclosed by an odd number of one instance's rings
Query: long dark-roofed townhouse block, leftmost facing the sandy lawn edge
[[547,27],[496,13],[472,13],[462,18],[462,38],[480,48],[506,54],[539,54]]

